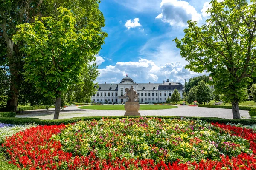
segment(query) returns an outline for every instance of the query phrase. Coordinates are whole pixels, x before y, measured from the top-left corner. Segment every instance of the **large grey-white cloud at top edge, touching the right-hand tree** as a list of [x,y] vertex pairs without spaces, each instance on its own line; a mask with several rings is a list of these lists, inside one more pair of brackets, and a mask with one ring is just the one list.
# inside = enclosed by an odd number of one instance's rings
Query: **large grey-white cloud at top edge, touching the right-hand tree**
[[196,9],[189,5],[186,1],[178,0],[162,0],[162,13],[156,19],[160,19],[171,26],[186,26],[188,20],[202,20],[201,14],[198,14]]

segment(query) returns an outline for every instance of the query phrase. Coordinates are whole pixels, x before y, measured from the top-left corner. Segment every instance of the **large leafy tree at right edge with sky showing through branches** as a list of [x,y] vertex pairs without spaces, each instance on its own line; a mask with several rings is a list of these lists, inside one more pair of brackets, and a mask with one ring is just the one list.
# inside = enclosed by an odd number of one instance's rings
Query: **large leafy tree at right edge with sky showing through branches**
[[240,119],[239,102],[256,76],[256,0],[211,1],[211,17],[203,26],[188,21],[185,37],[175,39],[180,55],[195,72],[207,70],[215,91],[232,103],[233,119]]

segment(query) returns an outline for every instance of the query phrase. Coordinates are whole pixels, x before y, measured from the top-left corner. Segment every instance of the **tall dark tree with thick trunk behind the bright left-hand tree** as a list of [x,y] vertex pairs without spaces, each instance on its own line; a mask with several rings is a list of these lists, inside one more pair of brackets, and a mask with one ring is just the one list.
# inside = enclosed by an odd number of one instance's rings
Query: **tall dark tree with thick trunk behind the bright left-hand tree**
[[[2,49],[0,58],[6,60],[10,75],[7,106],[13,106],[14,111],[17,111],[19,95],[27,95],[23,93],[24,90],[20,91],[24,88],[22,59],[26,54],[20,50],[25,44],[22,41],[15,44],[12,40],[18,30],[16,26],[35,22],[34,17],[38,15],[56,17],[57,8],[63,6],[73,11],[77,29],[86,28],[93,21],[98,26],[98,31],[101,31],[105,26],[105,19],[99,11],[100,2],[101,0],[0,0],[0,47]],[[33,95],[27,96],[31,98]]]

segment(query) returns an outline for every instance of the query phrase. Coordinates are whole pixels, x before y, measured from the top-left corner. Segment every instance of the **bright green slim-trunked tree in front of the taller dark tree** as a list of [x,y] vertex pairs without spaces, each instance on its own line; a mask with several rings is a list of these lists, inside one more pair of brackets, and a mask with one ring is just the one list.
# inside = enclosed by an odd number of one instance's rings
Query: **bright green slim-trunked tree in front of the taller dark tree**
[[[15,41],[24,41],[22,50],[25,81],[38,93],[56,99],[54,119],[58,119],[61,93],[69,85],[81,82],[81,73],[101,49],[106,33],[89,23],[75,27],[76,18],[66,8],[58,8],[57,17],[36,17],[32,24],[19,25]],[[90,77],[90,76],[89,76]]]

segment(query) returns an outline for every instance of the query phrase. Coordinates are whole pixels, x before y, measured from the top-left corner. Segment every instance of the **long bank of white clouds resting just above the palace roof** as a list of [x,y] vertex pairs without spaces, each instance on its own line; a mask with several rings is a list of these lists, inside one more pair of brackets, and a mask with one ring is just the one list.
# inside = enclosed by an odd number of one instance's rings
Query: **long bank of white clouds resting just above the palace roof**
[[122,78],[128,74],[137,83],[162,83],[163,80],[170,79],[184,83],[184,79],[203,75],[206,73],[195,73],[184,68],[180,62],[157,65],[148,59],[140,59],[137,62],[117,62],[116,65],[108,65],[99,69],[99,83],[120,83]]

